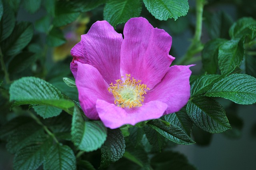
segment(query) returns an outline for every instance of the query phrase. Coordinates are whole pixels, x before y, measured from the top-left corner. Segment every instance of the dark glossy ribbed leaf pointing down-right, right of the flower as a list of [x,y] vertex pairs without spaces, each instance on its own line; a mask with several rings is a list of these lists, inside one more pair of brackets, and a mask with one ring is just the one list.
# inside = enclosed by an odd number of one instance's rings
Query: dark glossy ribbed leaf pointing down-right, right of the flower
[[231,126],[224,108],[215,100],[198,96],[189,100],[187,113],[196,126],[210,133],[221,133]]

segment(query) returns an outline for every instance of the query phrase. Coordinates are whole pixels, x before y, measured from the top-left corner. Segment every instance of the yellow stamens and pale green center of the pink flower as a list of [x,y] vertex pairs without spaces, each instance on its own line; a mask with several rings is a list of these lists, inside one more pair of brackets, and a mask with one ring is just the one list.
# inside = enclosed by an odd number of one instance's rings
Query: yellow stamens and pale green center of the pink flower
[[[123,78],[123,76],[121,77]],[[144,101],[143,94],[146,94],[146,84],[140,84],[141,80],[131,79],[131,74],[126,74],[126,79],[123,82],[121,79],[116,80],[116,84],[111,83],[108,91],[112,92],[115,101],[114,103],[121,108],[132,108],[135,106],[142,106]]]

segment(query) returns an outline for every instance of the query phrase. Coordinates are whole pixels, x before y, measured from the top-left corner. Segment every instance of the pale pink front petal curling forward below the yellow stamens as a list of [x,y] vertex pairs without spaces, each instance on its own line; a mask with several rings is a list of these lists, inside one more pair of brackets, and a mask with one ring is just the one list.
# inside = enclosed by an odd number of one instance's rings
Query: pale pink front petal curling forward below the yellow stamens
[[160,101],[150,101],[135,108],[120,108],[104,100],[97,100],[96,108],[103,124],[111,129],[119,128],[124,124],[135,125],[145,120],[160,118],[167,104]]

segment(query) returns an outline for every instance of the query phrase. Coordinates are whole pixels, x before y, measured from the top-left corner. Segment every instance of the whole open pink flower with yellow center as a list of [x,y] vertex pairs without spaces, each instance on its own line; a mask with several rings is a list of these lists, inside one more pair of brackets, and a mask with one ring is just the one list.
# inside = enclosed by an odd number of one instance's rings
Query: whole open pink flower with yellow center
[[131,18],[124,39],[107,21],[95,22],[71,50],[80,105],[108,128],[160,118],[190,98],[190,66],[171,66],[172,37],[145,18]]

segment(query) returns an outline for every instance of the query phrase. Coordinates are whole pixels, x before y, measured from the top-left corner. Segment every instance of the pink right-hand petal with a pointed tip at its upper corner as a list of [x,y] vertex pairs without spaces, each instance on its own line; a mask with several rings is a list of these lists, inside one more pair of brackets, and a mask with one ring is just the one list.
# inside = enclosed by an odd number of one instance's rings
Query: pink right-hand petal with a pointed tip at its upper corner
[[144,102],[159,100],[168,104],[165,114],[178,112],[190,98],[190,66],[171,66],[163,80],[144,95]]

